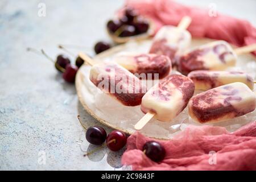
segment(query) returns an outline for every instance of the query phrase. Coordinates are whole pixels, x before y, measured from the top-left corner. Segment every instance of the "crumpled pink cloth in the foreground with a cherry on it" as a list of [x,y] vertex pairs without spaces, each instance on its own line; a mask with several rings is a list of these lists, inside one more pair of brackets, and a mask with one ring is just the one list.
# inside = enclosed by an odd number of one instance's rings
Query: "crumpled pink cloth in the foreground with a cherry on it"
[[155,140],[166,149],[160,163],[142,152],[149,140],[154,139],[138,132],[131,135],[122,164],[131,165],[133,170],[256,170],[256,121],[234,133],[224,127],[189,126],[174,139]]

